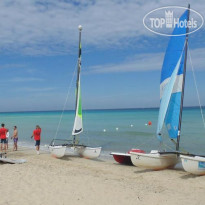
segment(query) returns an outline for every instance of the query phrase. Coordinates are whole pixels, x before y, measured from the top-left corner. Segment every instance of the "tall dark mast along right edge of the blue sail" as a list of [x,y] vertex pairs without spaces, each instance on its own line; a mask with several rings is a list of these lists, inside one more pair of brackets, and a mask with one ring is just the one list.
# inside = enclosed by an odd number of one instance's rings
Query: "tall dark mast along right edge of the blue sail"
[[[189,21],[189,15],[190,15],[190,4],[188,4],[187,22]],[[179,126],[178,126],[176,151],[179,151],[179,141],[180,141],[180,135],[181,135],[182,111],[183,111],[183,102],[184,102],[184,87],[185,87],[185,77],[186,77],[188,33],[189,33],[189,27],[188,27],[188,23],[187,23],[186,41],[185,41],[185,56],[184,56],[184,74],[183,74],[183,82],[182,82],[182,95],[181,95],[181,105],[180,105],[180,114],[179,114]]]

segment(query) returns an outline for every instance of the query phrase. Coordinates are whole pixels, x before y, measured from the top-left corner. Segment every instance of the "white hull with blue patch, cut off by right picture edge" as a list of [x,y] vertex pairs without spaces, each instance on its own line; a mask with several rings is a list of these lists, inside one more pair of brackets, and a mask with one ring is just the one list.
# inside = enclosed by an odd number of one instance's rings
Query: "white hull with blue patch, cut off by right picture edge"
[[205,157],[180,155],[180,158],[185,171],[205,175]]

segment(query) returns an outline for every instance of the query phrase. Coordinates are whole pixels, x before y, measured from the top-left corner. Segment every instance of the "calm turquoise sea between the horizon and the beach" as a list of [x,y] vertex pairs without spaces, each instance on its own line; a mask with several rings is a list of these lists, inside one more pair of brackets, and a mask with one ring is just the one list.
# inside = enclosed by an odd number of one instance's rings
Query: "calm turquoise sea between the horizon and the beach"
[[[58,111],[0,113],[1,122],[9,128],[10,135],[13,133],[13,126],[16,125],[19,131],[19,145],[28,147],[34,146],[30,137],[37,124],[42,128],[42,147],[49,144],[55,138],[60,116],[61,112]],[[105,153],[126,152],[131,148],[146,151],[158,149],[159,143],[155,136],[157,118],[158,109],[84,111],[84,132],[80,141],[90,146],[102,146]],[[73,121],[74,111],[66,111],[57,139],[71,139]],[[145,125],[148,121],[152,122],[151,126]],[[174,149],[173,143],[166,137],[166,131],[163,133],[165,144]],[[199,108],[184,109],[180,146],[192,153],[205,154],[205,128]]]

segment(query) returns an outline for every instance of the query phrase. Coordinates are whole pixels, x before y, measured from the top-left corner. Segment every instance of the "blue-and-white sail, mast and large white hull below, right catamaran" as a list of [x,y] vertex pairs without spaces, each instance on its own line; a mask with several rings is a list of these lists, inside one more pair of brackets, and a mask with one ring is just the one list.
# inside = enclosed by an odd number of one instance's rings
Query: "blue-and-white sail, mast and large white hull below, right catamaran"
[[[185,10],[179,21],[188,22],[189,15],[190,5],[188,5],[188,9]],[[165,125],[170,140],[176,144],[176,151],[152,150],[150,153],[130,152],[132,163],[135,166],[161,170],[173,167],[178,163],[187,45],[188,26],[176,27],[170,37],[161,70],[157,138],[160,145],[163,145],[162,129]]]

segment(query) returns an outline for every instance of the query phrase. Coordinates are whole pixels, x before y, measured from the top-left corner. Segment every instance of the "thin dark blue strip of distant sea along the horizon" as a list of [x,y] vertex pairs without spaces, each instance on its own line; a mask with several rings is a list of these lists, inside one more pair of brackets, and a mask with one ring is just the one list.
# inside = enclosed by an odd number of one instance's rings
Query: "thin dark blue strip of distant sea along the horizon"
[[[199,106],[186,106],[183,109],[199,109]],[[202,106],[204,109],[205,106]],[[127,110],[158,110],[159,107],[150,107],[150,108],[104,108],[104,109],[84,109],[83,111],[127,111]],[[64,112],[74,112],[75,110],[65,110]],[[0,114],[6,113],[41,113],[41,112],[62,112],[62,110],[35,110],[35,111],[5,111],[0,112]]]

